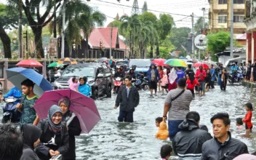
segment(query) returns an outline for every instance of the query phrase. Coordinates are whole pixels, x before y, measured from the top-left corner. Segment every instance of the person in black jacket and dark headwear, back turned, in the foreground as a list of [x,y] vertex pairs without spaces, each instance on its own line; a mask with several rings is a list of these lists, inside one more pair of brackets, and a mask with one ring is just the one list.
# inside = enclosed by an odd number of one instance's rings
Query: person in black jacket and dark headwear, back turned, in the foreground
[[212,139],[209,132],[199,129],[199,121],[199,113],[191,111],[179,125],[181,131],[172,141],[173,151],[179,159],[201,159],[201,146]]

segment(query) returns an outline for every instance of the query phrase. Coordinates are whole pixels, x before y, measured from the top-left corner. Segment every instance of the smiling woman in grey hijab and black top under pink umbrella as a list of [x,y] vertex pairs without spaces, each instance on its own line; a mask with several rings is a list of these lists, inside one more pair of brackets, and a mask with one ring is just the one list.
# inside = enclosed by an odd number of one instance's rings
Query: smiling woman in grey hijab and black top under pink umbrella
[[[41,160],[49,160],[52,156],[65,155],[68,152],[68,128],[63,123],[63,113],[59,106],[49,108],[47,119],[39,121],[41,129],[40,143],[36,146],[36,154]],[[65,156],[63,156],[65,159]]]

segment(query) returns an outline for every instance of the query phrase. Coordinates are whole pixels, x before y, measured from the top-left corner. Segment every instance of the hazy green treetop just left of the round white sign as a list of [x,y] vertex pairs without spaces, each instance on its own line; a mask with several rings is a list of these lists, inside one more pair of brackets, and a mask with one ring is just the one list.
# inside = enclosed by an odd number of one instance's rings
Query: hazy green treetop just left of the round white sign
[[181,48],[181,45],[187,47],[188,34],[191,32],[191,28],[181,27],[172,28],[171,36],[169,36],[169,41],[175,45],[176,48]]

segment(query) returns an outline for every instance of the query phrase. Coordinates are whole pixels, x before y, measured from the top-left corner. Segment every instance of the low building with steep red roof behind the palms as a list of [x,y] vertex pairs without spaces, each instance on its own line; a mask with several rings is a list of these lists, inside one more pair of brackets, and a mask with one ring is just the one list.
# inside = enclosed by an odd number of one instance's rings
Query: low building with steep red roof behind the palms
[[[81,31],[81,35],[84,37],[84,33]],[[111,41],[112,39],[112,41]],[[68,46],[68,42],[65,40],[65,52],[64,57],[73,58],[89,58],[97,59],[100,57],[113,57],[114,59],[121,59],[128,57],[128,48],[119,38],[118,28],[95,28],[89,35],[88,41],[88,53],[86,54],[86,41],[87,39],[81,39],[81,44],[76,46]],[[57,51],[58,56],[61,55],[61,38],[57,39]],[[111,55],[110,55],[111,49]]]

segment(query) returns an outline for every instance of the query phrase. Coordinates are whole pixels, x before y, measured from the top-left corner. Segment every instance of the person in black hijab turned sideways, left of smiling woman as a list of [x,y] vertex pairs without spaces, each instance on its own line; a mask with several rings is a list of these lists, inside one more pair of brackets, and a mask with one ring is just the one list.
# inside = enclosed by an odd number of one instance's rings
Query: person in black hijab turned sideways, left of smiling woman
[[23,124],[20,130],[23,134],[23,155],[20,160],[39,160],[33,149],[40,142],[41,129],[31,124]]

